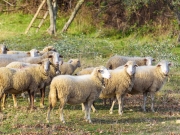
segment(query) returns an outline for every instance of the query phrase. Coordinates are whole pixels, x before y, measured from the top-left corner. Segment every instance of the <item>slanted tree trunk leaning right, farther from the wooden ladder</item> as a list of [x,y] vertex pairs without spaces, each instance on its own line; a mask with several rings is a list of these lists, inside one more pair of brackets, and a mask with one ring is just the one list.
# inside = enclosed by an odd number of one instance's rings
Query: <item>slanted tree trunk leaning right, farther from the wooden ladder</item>
[[67,31],[68,27],[70,26],[70,24],[72,23],[72,21],[74,20],[78,10],[80,9],[80,7],[82,6],[82,4],[84,3],[84,0],[79,0],[76,7],[74,8],[74,11],[72,12],[69,20],[67,21],[67,23],[64,25],[63,29],[62,29],[62,33]]

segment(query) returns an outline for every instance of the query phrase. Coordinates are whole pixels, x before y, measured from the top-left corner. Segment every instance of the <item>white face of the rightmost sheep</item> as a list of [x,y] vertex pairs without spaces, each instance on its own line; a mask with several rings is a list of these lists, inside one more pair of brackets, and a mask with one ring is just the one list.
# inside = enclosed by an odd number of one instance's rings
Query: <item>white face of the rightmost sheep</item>
[[157,67],[160,67],[161,72],[165,76],[168,76],[168,74],[169,74],[169,66],[171,66],[171,63],[168,61],[161,61],[157,64]]

